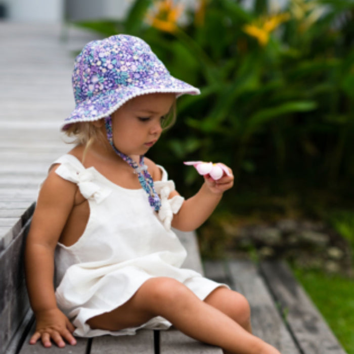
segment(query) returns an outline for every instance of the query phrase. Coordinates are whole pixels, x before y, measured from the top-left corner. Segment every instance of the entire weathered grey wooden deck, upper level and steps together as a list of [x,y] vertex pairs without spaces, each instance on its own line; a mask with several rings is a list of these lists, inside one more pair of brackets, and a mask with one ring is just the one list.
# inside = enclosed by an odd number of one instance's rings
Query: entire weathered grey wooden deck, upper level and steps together
[[[17,353],[24,324],[31,324],[21,273],[23,236],[48,166],[69,149],[60,138],[59,124],[74,106],[71,53],[93,39],[92,34],[72,28],[67,41],[60,41],[60,34],[59,26],[0,22],[0,354]],[[186,266],[201,269],[200,262]],[[248,298],[254,333],[282,354],[345,353],[285,264],[258,267],[230,260],[205,262],[204,270],[207,277],[228,283]],[[11,340],[13,333],[17,337]],[[154,353],[157,342],[161,353],[221,353],[173,330],[154,335],[141,331],[134,340],[80,339],[74,348],[50,352]],[[21,353],[26,352],[48,350],[25,344]]]

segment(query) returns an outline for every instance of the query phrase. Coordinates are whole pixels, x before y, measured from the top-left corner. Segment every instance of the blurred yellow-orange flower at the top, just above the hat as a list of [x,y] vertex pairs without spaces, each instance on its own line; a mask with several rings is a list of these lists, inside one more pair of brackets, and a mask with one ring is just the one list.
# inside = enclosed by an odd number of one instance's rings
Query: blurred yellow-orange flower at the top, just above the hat
[[147,15],[147,20],[151,26],[173,33],[176,31],[177,21],[183,12],[183,4],[174,5],[173,0],[160,0],[154,3],[154,8]]

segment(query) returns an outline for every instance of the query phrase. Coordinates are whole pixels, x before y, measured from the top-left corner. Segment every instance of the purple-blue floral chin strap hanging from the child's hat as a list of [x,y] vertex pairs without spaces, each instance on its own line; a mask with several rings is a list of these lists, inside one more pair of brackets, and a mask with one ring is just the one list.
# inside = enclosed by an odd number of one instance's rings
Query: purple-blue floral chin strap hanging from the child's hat
[[125,162],[127,162],[132,168],[134,168],[134,173],[138,174],[139,182],[145,192],[148,194],[149,203],[155,211],[158,211],[161,207],[161,200],[155,191],[154,182],[148,172],[148,166],[144,164],[144,155],[140,156],[139,164],[131,159],[129,156],[120,152],[113,143],[113,132],[112,132],[112,118],[108,116],[105,118],[106,124],[106,134],[109,144],[112,146],[115,153],[121,157]]

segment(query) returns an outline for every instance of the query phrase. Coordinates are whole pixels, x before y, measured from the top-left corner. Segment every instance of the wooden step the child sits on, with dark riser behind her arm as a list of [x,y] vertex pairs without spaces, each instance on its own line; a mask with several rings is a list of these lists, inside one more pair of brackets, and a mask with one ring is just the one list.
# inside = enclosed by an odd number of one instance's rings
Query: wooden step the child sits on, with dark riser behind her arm
[[[28,344],[34,331],[34,318],[29,307],[23,269],[23,250],[34,205],[2,240],[0,253],[0,353],[27,354],[70,352],[86,353],[207,353],[221,354],[222,350],[193,340],[177,330],[141,330],[135,336],[103,336],[93,339],[77,338],[77,345],[48,350],[40,343]],[[189,256],[185,267],[202,272],[196,238],[193,233],[179,233]],[[1,247],[1,246],[0,246]]]

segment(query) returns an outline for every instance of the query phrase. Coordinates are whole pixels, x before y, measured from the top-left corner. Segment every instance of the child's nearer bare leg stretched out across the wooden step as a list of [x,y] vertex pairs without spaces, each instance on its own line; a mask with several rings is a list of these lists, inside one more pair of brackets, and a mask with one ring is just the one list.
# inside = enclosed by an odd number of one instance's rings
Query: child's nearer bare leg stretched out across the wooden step
[[280,354],[229,316],[201,301],[186,286],[170,278],[152,278],[114,311],[87,321],[93,328],[118,330],[162,316],[197,340],[237,354]]

